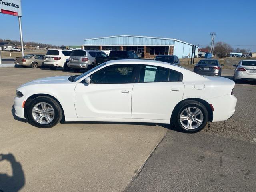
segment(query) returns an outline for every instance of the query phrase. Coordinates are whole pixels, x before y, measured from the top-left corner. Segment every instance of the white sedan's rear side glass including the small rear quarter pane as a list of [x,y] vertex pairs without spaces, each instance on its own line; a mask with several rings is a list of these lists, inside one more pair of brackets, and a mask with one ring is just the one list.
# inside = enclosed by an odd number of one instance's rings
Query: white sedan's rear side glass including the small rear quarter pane
[[182,81],[182,77],[180,72],[168,68],[143,65],[140,67],[139,82]]

